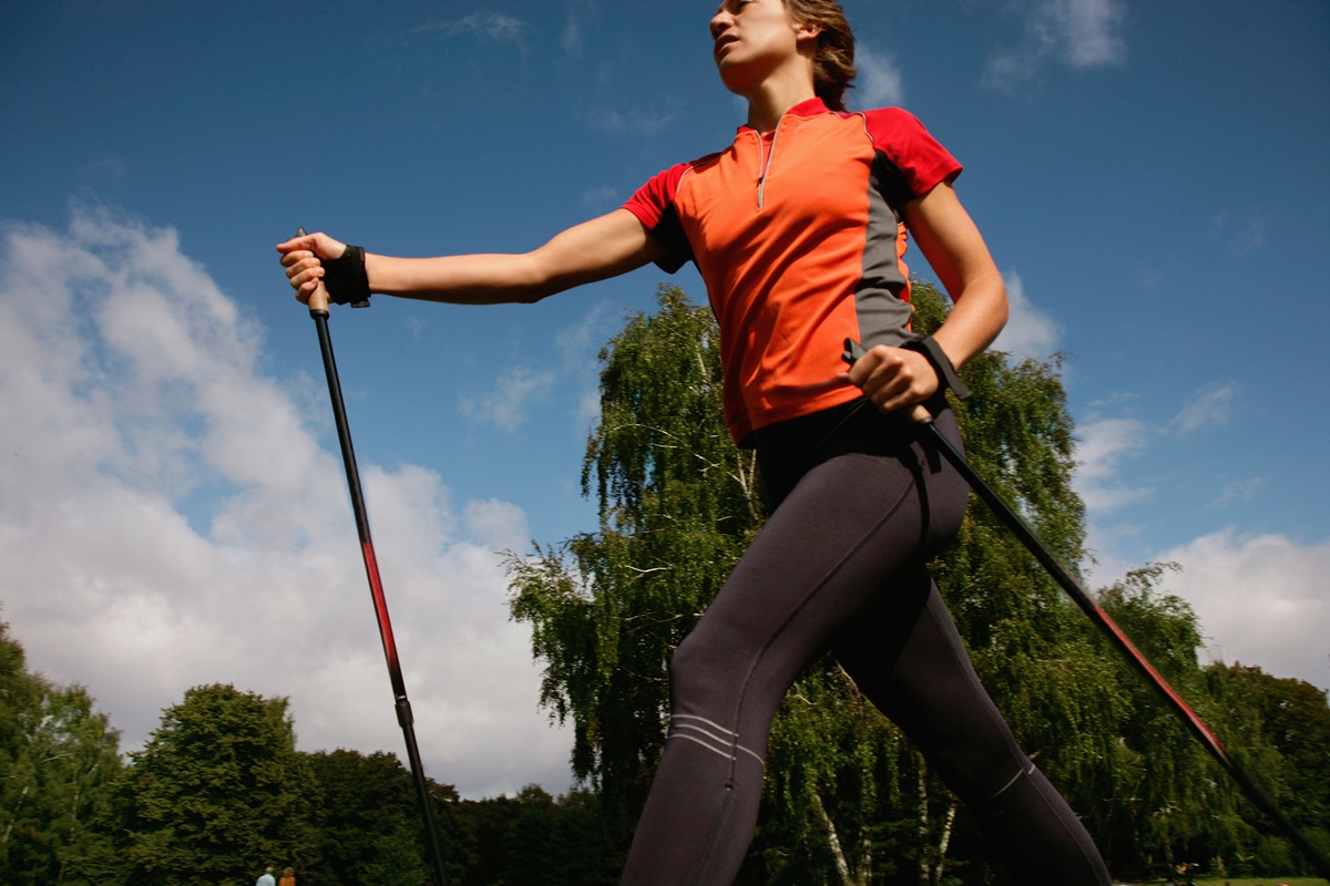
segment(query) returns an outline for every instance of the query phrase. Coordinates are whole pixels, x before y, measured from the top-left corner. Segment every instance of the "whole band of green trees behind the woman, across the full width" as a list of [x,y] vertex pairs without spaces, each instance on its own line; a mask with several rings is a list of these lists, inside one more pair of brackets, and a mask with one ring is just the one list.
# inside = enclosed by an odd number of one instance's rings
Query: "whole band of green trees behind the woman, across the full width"
[[[944,315],[915,286],[916,329]],[[543,701],[572,723],[584,788],[462,800],[431,784],[455,886],[610,885],[668,711],[665,667],[762,522],[751,453],[720,413],[714,320],[676,288],[601,353],[601,421],[584,466],[600,526],[509,557]],[[955,404],[968,457],[1065,563],[1084,558],[1073,426],[1056,361],[988,353]],[[1306,861],[1229,784],[1150,689],[980,503],[934,565],[976,668],[1023,747],[1068,796],[1119,879],[1291,875]],[[1168,565],[1100,602],[1168,680],[1330,851],[1330,707],[1309,683],[1200,664],[1201,627]],[[81,687],[31,673],[0,626],[0,883],[233,886],[265,866],[301,886],[430,882],[408,773],[387,752],[305,753],[285,699],[190,689],[146,745]],[[771,736],[745,885],[1005,883],[966,810],[899,731],[823,660]]]

